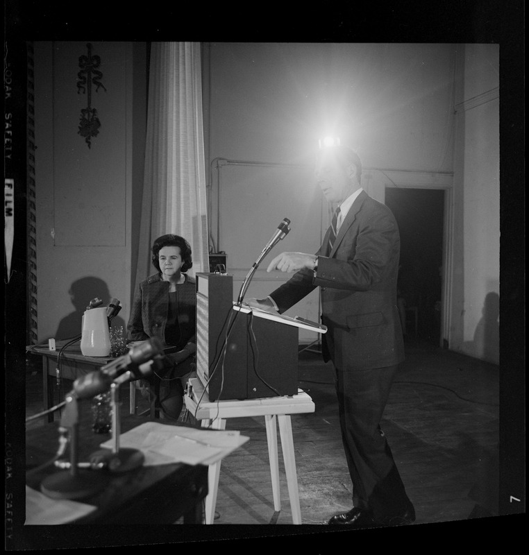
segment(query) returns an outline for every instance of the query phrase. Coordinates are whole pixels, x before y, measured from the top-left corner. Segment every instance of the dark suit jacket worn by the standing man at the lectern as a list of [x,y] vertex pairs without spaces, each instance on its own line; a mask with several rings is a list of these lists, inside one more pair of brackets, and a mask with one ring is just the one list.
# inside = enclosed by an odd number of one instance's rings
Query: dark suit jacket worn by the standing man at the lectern
[[394,366],[404,360],[396,282],[401,241],[385,205],[361,191],[339,228],[333,250],[327,230],[318,252],[317,273],[296,272],[273,293],[283,313],[321,288],[324,360],[342,370]]

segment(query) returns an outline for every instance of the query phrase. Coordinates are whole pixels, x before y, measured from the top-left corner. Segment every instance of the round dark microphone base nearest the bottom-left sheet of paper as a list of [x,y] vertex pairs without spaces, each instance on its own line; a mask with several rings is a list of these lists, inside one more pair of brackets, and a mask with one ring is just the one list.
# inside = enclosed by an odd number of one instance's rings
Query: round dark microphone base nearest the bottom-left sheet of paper
[[105,477],[93,470],[78,470],[75,476],[65,470],[44,478],[40,490],[52,499],[81,499],[94,495],[107,483]]

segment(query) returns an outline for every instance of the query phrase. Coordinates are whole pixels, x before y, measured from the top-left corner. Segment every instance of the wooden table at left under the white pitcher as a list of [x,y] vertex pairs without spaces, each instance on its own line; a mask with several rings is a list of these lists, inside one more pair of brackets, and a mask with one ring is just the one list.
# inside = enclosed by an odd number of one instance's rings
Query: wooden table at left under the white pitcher
[[[53,407],[54,402],[63,400],[54,400],[53,395],[54,388],[58,387],[58,384],[60,384],[63,379],[73,381],[79,376],[89,374],[115,360],[115,358],[112,357],[85,357],[81,352],[81,344],[78,342],[68,345],[68,347],[62,351],[60,360],[58,361],[60,348],[62,345],[65,345],[65,343],[67,343],[67,341],[58,341],[56,350],[53,351],[49,350],[47,346],[35,347],[32,345],[28,347],[31,348],[31,352],[35,355],[42,356],[43,411],[47,411],[49,408]],[[44,421],[53,422],[53,412],[44,416]]]

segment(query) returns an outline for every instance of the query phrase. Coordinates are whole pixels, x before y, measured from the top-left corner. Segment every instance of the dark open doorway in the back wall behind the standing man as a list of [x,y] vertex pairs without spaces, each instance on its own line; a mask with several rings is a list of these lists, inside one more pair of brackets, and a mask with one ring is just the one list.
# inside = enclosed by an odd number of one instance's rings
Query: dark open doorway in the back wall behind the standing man
[[439,346],[444,190],[386,187],[385,204],[401,233],[398,289],[406,307],[405,337]]

